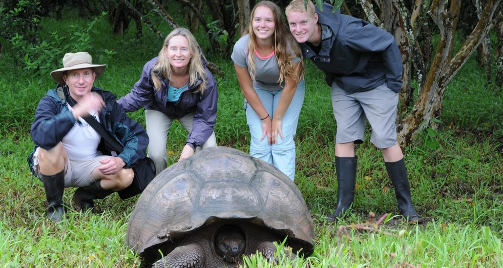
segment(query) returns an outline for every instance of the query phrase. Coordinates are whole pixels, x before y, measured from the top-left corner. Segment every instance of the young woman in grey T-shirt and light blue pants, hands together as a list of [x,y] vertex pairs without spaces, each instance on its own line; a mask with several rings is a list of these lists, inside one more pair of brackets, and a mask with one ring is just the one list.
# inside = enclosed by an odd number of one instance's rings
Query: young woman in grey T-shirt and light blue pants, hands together
[[293,181],[294,136],[305,92],[304,64],[276,4],[262,1],[255,5],[231,58],[245,98],[250,155],[273,164]]

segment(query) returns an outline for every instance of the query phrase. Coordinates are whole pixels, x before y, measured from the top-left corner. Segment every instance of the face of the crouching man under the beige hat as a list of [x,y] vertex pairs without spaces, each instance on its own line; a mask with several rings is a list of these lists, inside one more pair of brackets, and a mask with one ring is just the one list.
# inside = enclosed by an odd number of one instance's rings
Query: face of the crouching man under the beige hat
[[63,79],[68,85],[70,96],[75,101],[91,92],[95,78],[96,73],[92,68],[69,70],[63,75]]

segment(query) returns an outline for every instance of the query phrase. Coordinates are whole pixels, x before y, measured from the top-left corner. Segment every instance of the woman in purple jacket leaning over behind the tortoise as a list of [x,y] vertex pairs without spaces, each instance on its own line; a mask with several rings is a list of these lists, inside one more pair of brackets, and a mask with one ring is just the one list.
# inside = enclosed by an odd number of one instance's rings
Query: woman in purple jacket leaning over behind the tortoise
[[166,139],[174,120],[189,133],[180,160],[199,148],[216,146],[217,82],[192,33],[173,30],[158,56],[143,66],[140,79],[118,103],[126,112],[145,108],[148,156],[158,174],[167,166]]

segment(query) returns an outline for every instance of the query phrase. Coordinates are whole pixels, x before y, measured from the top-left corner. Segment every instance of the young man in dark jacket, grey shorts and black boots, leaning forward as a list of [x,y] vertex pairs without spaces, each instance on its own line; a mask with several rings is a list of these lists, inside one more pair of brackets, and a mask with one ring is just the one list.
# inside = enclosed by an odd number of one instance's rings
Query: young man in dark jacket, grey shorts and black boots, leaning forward
[[353,203],[357,156],[354,144],[363,142],[368,119],[370,141],[384,156],[395,187],[400,213],[409,222],[422,222],[412,206],[403,154],[396,140],[396,107],[402,85],[400,50],[393,36],[368,22],[342,15],[323,4],[319,11],[308,1],[294,0],[286,8],[290,32],[303,56],[322,71],[332,88],[332,108],[337,121],[337,209],[343,216]]

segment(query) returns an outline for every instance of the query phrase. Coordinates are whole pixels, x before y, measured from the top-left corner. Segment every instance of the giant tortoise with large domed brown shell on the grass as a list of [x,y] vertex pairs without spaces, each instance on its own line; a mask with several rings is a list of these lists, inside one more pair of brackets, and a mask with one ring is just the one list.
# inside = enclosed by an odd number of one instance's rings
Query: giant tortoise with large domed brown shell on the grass
[[[205,149],[159,173],[141,194],[126,240],[144,265],[236,267],[273,242],[308,256],[314,228],[295,184],[272,165],[228,147]],[[291,255],[295,256],[295,255]]]

